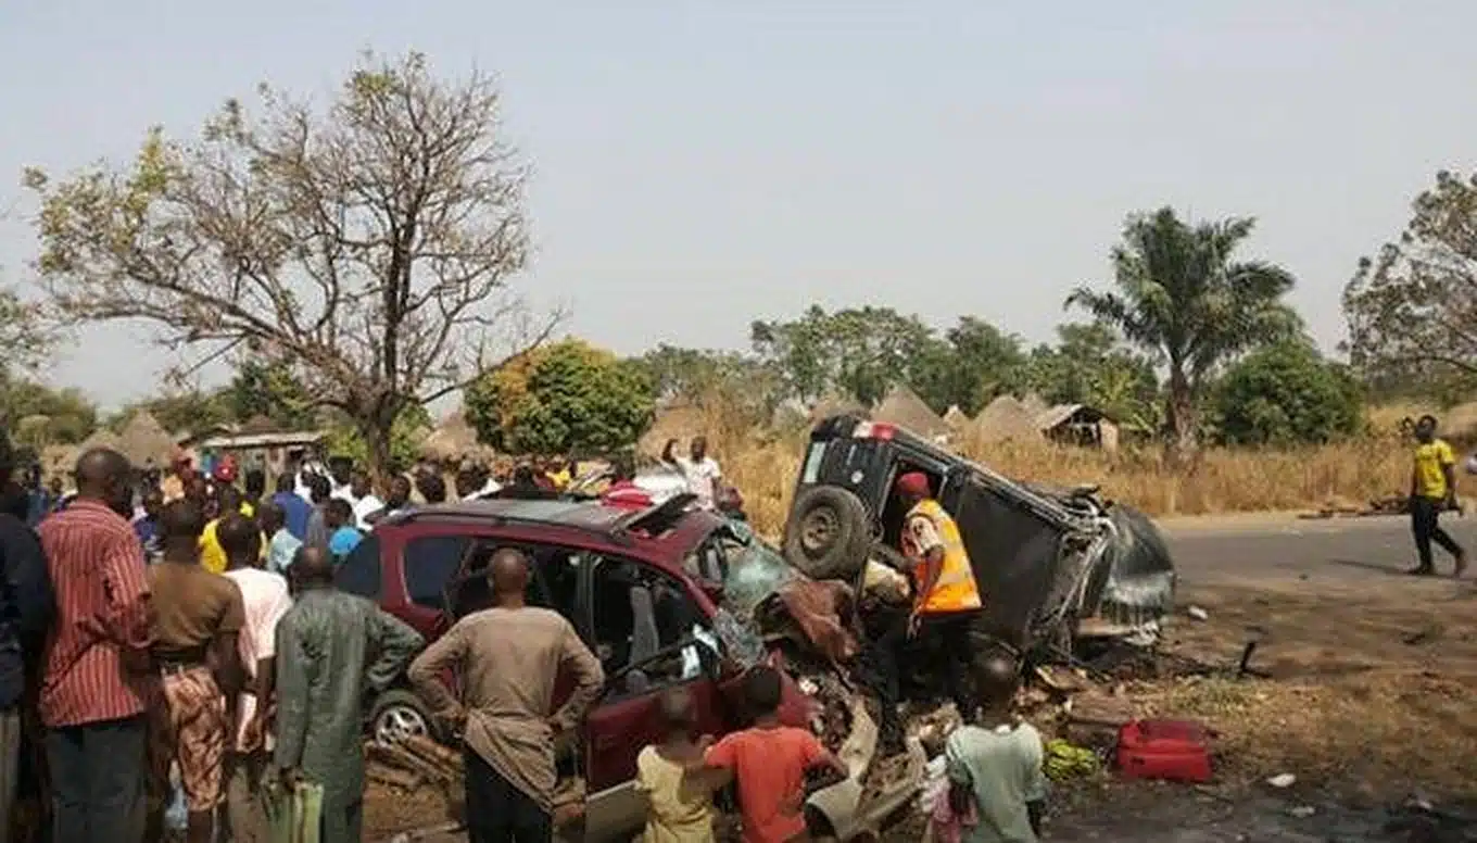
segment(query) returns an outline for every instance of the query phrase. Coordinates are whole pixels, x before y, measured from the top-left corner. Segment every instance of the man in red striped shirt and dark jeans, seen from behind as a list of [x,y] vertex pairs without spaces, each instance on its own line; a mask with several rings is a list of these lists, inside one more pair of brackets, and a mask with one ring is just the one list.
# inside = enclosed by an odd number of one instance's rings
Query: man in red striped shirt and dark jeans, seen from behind
[[37,529],[56,593],[40,713],[58,842],[143,837],[149,617],[128,475],[121,453],[87,450],[77,498]]

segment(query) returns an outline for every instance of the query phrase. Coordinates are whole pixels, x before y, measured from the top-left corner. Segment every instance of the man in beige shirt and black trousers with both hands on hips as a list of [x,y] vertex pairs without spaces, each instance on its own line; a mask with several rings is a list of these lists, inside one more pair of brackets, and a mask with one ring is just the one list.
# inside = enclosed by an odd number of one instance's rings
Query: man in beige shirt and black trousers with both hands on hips
[[[554,836],[554,738],[575,729],[606,676],[564,616],[526,605],[529,560],[502,548],[487,565],[493,607],[456,622],[411,664],[411,684],[464,738],[471,843]],[[462,698],[442,684],[459,667]],[[557,712],[560,672],[575,691]]]

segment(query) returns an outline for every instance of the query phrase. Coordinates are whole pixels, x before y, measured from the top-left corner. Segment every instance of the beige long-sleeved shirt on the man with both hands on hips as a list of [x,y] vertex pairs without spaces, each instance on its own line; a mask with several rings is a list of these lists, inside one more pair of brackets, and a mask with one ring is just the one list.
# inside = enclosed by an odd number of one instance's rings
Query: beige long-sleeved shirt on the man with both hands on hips
[[[442,684],[456,667],[462,698]],[[575,691],[554,712],[554,684]],[[489,608],[468,614],[411,664],[411,684],[443,718],[465,716],[464,738],[489,766],[544,811],[554,808],[554,734],[579,726],[606,675],[564,616],[546,608]]]

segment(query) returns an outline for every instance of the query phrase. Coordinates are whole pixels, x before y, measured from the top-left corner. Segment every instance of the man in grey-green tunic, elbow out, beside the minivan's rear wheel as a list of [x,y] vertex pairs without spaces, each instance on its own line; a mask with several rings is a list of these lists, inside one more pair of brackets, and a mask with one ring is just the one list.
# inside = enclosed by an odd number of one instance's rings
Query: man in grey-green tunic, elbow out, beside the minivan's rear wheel
[[272,778],[322,785],[321,843],[359,843],[363,695],[387,688],[424,642],[375,604],[334,588],[334,562],[323,548],[300,548],[288,573],[297,601],[276,629]]

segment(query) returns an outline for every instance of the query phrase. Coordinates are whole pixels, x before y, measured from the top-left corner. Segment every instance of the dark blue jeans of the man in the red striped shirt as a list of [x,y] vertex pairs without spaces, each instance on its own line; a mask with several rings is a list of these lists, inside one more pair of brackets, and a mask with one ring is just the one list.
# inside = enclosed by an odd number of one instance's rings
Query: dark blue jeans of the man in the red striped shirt
[[143,716],[47,729],[52,840],[143,840],[146,741]]

